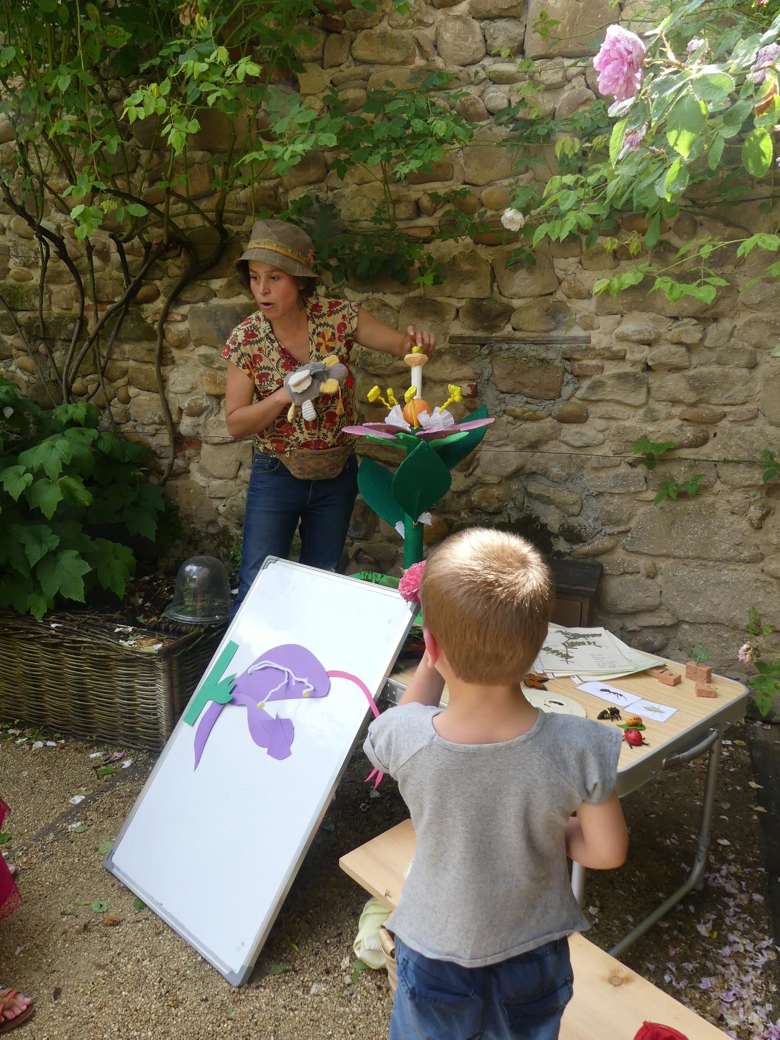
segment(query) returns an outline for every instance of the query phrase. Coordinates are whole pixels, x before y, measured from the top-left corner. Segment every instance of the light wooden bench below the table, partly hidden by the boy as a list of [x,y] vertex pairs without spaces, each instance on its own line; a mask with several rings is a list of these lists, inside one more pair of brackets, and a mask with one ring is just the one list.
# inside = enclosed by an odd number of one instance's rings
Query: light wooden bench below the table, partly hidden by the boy
[[[414,851],[414,828],[407,820],[342,856],[339,865],[392,910]],[[714,1025],[581,935],[571,937],[570,947],[574,996],[564,1015],[561,1040],[633,1040],[644,1021],[671,1025],[688,1040],[724,1040]]]

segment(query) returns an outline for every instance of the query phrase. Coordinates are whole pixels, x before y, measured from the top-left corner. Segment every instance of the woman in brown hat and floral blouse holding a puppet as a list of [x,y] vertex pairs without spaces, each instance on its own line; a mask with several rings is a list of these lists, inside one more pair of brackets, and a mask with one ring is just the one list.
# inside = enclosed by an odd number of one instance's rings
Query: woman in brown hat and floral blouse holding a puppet
[[288,555],[298,524],[301,563],[338,566],[358,493],[354,439],[342,433],[358,419],[353,343],[398,358],[436,345],[433,333],[397,332],[347,300],[317,298],[313,258],[305,231],[258,220],[236,261],[259,309],[223,352],[228,430],[254,438],[234,613],[265,557]]

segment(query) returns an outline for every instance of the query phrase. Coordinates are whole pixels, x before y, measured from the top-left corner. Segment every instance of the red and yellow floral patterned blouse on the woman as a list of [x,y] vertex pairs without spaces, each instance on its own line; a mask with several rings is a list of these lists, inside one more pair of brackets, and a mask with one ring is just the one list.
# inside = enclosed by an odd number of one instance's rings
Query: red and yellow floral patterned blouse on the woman
[[[320,394],[314,400],[316,421],[307,422],[296,409],[293,422],[287,421],[285,409],[275,422],[255,434],[255,449],[265,454],[288,448],[332,448],[350,443],[354,438],[342,434],[342,426],[358,421],[349,352],[355,341],[358,308],[347,300],[310,300],[306,305],[309,317],[309,360],[324,361],[337,354],[349,375],[341,390],[343,414],[337,413],[338,395]],[[240,368],[255,384],[259,400],[284,386],[285,376],[301,367],[301,362],[274,335],[270,321],[257,311],[233,330],[223,350],[223,357]]]

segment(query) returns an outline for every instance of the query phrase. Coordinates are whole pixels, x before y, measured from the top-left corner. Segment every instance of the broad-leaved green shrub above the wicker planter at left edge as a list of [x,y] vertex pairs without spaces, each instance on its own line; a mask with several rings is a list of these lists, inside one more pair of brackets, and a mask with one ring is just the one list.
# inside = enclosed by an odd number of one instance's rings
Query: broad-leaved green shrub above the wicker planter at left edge
[[0,605],[38,621],[97,589],[122,598],[135,573],[125,543],[154,540],[162,491],[149,448],[98,430],[94,405],[50,412],[0,375]]

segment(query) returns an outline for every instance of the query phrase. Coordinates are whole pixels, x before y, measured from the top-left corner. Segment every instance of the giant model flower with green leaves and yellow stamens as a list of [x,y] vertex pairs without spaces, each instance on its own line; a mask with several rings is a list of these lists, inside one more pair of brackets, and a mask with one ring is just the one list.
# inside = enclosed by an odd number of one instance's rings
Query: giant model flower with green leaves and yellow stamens
[[459,386],[448,385],[449,398],[439,408],[422,399],[424,354],[413,352],[404,359],[412,369],[412,385],[404,395],[401,409],[392,389],[383,397],[379,387],[368,393],[369,401],[381,400],[388,409],[384,422],[363,422],[345,426],[369,441],[404,451],[395,472],[371,459],[364,459],[358,471],[358,487],[364,501],[404,536],[404,567],[422,560],[423,522],[427,511],[449,491],[450,470],[471,454],[494,420],[480,408],[465,422],[456,422],[447,408],[461,400]]

